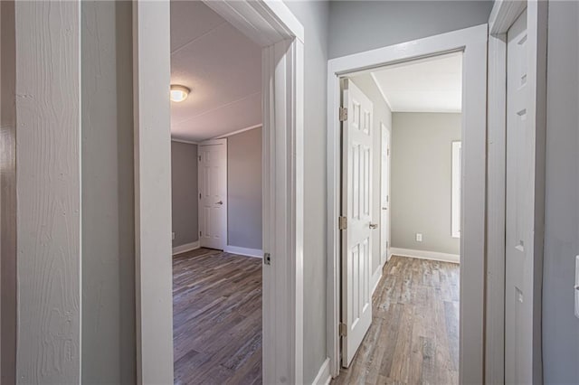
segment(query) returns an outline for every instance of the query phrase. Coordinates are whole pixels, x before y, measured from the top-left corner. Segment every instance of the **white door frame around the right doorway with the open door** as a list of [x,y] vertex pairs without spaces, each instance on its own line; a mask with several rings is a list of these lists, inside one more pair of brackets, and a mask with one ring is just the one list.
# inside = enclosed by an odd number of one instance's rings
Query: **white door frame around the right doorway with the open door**
[[[339,79],[387,64],[463,52],[462,211],[460,239],[460,383],[484,382],[485,187],[488,25],[360,52],[327,63],[327,354],[339,373],[340,122]],[[465,129],[469,127],[469,129]],[[468,255],[469,258],[464,258]],[[468,282],[469,285],[463,285]]]

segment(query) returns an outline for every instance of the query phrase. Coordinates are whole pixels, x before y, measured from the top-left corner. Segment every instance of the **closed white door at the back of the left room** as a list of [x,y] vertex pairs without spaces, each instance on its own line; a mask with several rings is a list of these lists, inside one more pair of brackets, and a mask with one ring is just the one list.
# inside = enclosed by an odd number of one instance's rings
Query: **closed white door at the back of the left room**
[[227,139],[203,142],[198,147],[199,242],[221,249],[227,243]]

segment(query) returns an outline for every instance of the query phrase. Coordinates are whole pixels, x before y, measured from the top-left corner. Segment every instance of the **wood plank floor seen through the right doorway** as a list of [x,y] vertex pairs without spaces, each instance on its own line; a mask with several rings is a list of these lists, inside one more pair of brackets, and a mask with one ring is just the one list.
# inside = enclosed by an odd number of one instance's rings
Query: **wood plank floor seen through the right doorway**
[[458,384],[459,273],[456,264],[392,257],[372,326],[332,384]]

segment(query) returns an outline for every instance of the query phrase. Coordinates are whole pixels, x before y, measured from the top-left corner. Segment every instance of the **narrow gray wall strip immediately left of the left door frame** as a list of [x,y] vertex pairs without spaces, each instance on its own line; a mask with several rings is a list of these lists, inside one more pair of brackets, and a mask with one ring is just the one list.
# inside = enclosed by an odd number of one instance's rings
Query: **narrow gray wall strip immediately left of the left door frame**
[[132,9],[81,4],[82,383],[135,383]]

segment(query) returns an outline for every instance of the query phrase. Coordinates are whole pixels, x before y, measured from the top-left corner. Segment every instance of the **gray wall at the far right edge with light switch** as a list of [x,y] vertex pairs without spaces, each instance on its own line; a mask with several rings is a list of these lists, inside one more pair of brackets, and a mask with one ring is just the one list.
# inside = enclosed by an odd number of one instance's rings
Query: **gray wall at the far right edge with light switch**
[[549,2],[546,234],[543,273],[545,383],[579,383],[574,258],[579,254],[579,5]]

